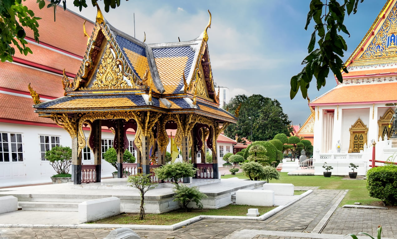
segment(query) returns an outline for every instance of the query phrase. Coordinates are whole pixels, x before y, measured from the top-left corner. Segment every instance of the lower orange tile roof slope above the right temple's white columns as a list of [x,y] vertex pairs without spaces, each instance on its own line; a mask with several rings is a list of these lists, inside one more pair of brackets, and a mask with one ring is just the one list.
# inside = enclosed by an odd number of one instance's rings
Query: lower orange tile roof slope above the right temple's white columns
[[309,105],[397,101],[397,82],[339,85]]

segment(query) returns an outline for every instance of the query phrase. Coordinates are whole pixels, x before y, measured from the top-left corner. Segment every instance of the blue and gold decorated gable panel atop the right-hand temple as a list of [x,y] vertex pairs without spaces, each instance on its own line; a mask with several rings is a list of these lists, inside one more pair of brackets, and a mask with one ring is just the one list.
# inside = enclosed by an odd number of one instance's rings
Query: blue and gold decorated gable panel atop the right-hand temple
[[364,50],[362,55],[355,60],[357,62],[368,62],[375,60],[397,59],[397,6],[393,6],[382,27],[372,38],[372,42]]

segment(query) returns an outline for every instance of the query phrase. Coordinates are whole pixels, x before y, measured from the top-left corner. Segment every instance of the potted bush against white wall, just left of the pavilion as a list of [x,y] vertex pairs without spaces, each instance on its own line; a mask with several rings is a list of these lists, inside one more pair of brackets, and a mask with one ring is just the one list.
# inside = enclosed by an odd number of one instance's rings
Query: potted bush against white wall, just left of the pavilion
[[52,184],[72,182],[72,176],[69,174],[69,167],[72,163],[71,148],[62,145],[52,147],[46,152],[45,158],[57,173],[51,177]]

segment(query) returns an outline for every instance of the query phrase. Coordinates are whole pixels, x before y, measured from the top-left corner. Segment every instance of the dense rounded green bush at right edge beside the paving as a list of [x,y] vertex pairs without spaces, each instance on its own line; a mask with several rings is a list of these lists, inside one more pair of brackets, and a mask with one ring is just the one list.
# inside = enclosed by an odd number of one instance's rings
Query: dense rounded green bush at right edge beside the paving
[[397,205],[397,166],[371,168],[366,186],[371,197],[382,200],[385,205]]

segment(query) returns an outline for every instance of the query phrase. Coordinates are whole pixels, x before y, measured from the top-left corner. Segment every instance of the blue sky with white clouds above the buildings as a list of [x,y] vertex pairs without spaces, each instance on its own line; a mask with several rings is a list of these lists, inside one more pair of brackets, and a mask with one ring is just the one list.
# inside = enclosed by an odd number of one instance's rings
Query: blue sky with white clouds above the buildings
[[[90,2],[87,0],[87,2]],[[358,4],[355,15],[345,19],[351,34],[341,33],[348,50],[345,61],[360,43],[385,0],[365,0]],[[102,12],[105,19],[119,30],[146,43],[176,42],[197,38],[208,24],[208,48],[214,81],[230,89],[231,96],[261,94],[280,101],[293,124],[303,124],[310,114],[307,100],[299,92],[289,98],[290,79],[302,69],[301,61],[308,55],[307,45],[312,27],[304,30],[310,0],[121,0],[119,8]],[[80,13],[67,0],[67,6],[80,15],[95,20],[96,8]],[[308,90],[310,99],[335,87],[333,75],[326,86],[317,91],[315,79]]]

